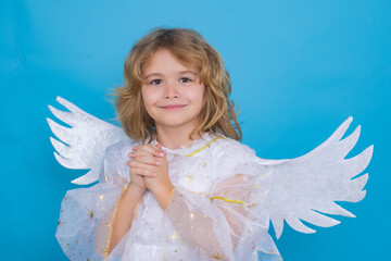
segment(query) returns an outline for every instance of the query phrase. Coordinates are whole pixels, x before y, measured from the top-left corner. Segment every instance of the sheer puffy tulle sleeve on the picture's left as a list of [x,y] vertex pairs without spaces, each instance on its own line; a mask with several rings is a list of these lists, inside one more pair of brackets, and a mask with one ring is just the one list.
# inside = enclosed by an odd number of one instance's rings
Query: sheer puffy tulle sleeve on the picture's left
[[[124,141],[109,147],[104,153],[103,172],[92,187],[68,190],[61,204],[55,237],[70,260],[105,260],[111,225],[117,201],[129,182]],[[119,259],[126,235],[110,254]]]

